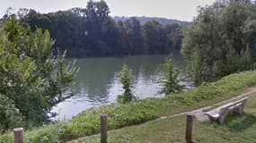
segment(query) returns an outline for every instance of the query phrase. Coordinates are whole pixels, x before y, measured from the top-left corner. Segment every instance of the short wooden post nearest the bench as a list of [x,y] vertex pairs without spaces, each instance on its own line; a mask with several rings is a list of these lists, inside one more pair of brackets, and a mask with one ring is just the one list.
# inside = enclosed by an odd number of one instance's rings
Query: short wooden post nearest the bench
[[186,143],[192,143],[192,130],[193,130],[193,114],[187,114],[185,140]]

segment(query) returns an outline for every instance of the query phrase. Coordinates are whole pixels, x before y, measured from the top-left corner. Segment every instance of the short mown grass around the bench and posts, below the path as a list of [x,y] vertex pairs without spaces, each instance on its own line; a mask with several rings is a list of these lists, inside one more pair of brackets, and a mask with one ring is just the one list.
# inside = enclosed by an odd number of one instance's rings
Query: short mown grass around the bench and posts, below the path
[[[250,96],[244,115],[229,115],[224,125],[217,122],[194,122],[193,140],[198,143],[254,143],[256,142],[256,94]],[[110,143],[166,143],[184,142],[185,116],[139,126],[113,130],[109,133]],[[100,136],[91,136],[69,143],[98,143]]]

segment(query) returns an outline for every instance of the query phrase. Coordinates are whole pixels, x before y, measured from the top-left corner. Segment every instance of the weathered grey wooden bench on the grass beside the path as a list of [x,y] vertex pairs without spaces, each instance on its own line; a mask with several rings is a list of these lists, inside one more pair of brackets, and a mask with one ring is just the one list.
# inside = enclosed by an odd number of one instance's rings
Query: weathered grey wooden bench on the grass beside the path
[[231,102],[229,104],[222,105],[216,109],[208,111],[205,114],[207,114],[211,121],[218,120],[220,123],[223,123],[227,114],[231,114],[233,112],[243,114],[243,108],[247,102],[247,99],[248,97],[244,97],[238,101]]

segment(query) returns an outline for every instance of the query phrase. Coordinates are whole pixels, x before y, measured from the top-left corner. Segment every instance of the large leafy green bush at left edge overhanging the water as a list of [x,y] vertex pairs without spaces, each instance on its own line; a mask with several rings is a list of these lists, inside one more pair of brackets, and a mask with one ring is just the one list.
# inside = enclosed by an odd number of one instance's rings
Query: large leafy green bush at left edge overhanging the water
[[75,65],[65,67],[63,56],[51,53],[49,31],[23,28],[6,17],[0,28],[0,128],[30,127],[49,122],[51,107],[75,75]]

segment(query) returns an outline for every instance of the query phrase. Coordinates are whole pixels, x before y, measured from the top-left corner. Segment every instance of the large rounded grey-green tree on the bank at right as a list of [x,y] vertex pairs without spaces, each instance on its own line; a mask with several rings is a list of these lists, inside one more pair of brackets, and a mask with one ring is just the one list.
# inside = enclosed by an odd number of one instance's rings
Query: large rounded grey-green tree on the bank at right
[[183,30],[181,48],[197,85],[250,69],[256,59],[255,18],[255,5],[249,1],[200,8],[199,16]]

